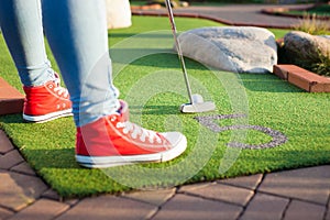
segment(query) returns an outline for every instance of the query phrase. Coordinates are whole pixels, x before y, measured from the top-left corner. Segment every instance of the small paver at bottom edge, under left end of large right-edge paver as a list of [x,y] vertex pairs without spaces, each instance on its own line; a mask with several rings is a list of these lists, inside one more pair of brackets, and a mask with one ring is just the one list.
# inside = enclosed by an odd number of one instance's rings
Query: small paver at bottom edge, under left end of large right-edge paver
[[280,220],[288,202],[289,199],[257,193],[249,204],[241,220]]

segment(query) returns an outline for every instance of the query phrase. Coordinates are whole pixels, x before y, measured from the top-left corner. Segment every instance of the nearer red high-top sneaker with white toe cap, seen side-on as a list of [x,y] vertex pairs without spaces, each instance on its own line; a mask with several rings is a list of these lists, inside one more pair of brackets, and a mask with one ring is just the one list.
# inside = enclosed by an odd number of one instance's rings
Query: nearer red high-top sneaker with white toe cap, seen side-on
[[105,168],[134,163],[170,161],[187,147],[179,132],[157,133],[129,122],[121,101],[119,113],[77,128],[76,161],[85,167]]

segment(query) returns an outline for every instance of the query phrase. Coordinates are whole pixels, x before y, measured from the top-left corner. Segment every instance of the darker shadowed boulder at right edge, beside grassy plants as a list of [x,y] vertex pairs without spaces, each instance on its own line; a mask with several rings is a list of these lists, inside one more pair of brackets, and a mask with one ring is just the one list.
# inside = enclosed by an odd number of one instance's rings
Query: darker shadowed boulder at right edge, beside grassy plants
[[285,55],[290,63],[308,66],[330,58],[330,38],[327,35],[311,35],[293,31],[284,36]]

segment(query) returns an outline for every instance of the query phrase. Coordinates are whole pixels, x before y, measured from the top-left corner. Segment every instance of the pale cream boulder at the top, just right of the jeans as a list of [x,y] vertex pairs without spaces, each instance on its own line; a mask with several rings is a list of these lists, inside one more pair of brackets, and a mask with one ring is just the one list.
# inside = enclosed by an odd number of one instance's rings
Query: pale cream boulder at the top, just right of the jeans
[[121,29],[132,25],[132,12],[129,0],[106,0],[108,29]]

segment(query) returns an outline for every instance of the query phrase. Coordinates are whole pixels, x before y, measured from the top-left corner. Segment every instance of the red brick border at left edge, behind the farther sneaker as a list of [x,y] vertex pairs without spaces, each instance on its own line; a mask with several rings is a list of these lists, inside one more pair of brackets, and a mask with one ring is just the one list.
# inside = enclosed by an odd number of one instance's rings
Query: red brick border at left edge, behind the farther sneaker
[[23,103],[24,95],[0,77],[0,116],[21,113]]

